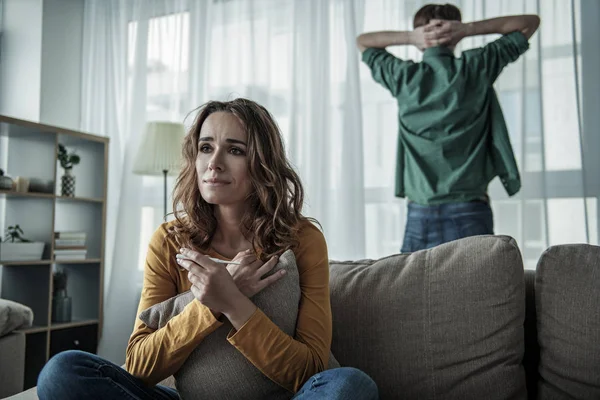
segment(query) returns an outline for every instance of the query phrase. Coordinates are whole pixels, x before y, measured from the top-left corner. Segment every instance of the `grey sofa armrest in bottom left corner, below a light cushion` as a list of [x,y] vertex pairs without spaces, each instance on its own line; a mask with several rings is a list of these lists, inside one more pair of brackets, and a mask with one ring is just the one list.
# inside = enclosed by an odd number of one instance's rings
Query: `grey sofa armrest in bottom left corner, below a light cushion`
[[25,376],[25,334],[16,332],[0,337],[0,398],[23,390]]

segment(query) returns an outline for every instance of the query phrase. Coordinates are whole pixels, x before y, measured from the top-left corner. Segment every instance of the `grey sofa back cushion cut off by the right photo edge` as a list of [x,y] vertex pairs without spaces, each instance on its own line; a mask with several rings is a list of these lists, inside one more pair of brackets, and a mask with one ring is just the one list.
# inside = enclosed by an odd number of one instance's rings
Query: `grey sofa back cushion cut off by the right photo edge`
[[536,274],[541,399],[600,399],[600,247],[562,245]]

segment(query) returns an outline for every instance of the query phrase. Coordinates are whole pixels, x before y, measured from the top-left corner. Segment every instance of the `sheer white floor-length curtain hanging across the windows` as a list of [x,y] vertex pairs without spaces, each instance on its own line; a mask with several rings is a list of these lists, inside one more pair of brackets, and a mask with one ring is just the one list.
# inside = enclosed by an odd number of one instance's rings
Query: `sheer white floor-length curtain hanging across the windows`
[[[111,137],[102,356],[124,359],[146,246],[163,217],[162,181],[131,173],[146,121],[189,124],[188,113],[207,100],[258,101],[284,133],[306,188],[305,214],[322,223],[330,257],[399,251],[405,202],[393,197],[396,104],[360,63],[355,37],[410,29],[424,3],[86,0],[82,129]],[[597,242],[596,199],[584,200],[579,2],[457,5],[465,21],[523,12],[543,20],[531,50],[498,81],[523,190],[508,199],[492,185],[497,233],[518,240],[530,268],[548,245]],[[461,48],[492,39],[465,40]],[[420,57],[413,48],[393,51]]]

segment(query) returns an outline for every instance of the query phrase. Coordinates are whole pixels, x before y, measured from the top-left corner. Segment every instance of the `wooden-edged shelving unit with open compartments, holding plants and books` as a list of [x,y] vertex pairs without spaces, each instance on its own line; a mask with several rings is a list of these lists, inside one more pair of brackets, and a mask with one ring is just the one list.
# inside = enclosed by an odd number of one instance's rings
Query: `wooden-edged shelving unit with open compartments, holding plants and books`
[[[58,144],[81,157],[72,173],[75,197],[61,195]],[[26,334],[25,387],[35,386],[50,357],[64,350],[95,353],[102,327],[108,138],[0,115],[0,168],[17,176],[54,181],[53,193],[0,190],[0,228],[19,224],[25,237],[45,243],[41,260],[1,261],[0,297],[34,312]],[[53,259],[54,232],[86,233],[85,260]],[[52,274],[68,273],[71,322],[52,322]]]

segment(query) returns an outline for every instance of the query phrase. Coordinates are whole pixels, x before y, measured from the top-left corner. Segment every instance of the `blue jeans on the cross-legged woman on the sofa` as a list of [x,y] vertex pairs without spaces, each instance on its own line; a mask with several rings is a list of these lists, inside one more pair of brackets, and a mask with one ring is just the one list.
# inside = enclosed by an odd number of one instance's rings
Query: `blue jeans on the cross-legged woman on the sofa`
[[[69,350],[52,357],[38,377],[40,400],[165,399],[178,400],[177,391],[147,387],[123,368],[94,354]],[[295,400],[379,398],[377,385],[355,368],[336,368],[311,377]]]

